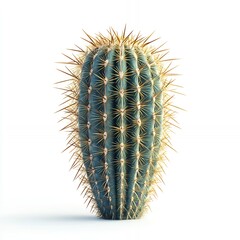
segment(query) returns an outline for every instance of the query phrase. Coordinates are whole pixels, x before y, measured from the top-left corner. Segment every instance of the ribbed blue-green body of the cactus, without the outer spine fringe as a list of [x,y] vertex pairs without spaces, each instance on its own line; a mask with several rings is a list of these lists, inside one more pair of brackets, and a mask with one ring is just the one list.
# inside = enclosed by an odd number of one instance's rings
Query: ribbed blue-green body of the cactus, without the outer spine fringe
[[102,47],[87,54],[79,136],[103,218],[133,219],[144,210],[160,147],[160,93],[157,68],[139,48]]

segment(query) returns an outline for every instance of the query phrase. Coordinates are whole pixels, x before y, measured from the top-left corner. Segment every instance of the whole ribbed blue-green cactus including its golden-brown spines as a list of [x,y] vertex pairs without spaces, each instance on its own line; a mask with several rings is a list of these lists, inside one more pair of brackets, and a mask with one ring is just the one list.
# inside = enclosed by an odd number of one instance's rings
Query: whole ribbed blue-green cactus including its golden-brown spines
[[[140,218],[162,182],[176,92],[168,50],[148,37],[85,33],[88,47],[71,49],[62,71],[68,146],[82,193],[105,219]],[[65,150],[66,150],[65,149]]]

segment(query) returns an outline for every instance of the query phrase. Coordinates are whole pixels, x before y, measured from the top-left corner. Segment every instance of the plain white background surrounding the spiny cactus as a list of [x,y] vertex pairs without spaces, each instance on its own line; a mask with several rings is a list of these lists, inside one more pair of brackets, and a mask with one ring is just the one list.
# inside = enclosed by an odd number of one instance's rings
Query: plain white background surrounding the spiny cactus
[[[240,239],[238,1],[0,2],[0,239]],[[167,41],[186,97],[165,186],[136,221],[104,221],[69,172],[55,62],[112,26]]]

